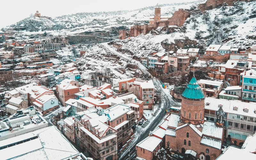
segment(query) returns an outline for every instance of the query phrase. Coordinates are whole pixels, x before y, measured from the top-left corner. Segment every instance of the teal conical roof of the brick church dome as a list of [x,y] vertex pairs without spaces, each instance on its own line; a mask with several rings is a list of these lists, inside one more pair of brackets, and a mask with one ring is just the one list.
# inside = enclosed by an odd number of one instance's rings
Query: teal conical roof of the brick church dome
[[182,93],[182,97],[187,100],[204,100],[205,96],[200,86],[198,85],[195,76],[192,77],[187,85],[187,88]]

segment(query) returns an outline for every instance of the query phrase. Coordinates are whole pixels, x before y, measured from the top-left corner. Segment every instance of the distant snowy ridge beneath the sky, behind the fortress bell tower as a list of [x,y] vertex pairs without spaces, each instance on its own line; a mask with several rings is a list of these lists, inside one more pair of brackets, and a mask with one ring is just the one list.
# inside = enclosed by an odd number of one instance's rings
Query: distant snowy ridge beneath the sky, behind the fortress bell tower
[[[202,0],[186,4],[162,4],[160,5],[161,12],[162,14],[171,17],[174,11],[179,8],[189,9],[191,5],[199,4],[200,2],[202,2]],[[30,31],[33,34],[35,34],[35,32],[43,33],[42,31],[44,30],[52,35],[92,34],[93,32],[103,32],[108,33],[107,36],[117,37],[117,31],[119,29],[129,29],[133,24],[148,23],[150,15],[154,14],[154,8],[155,6],[132,11],[83,12],[55,17],[52,21],[44,18],[38,19],[32,17],[21,20],[11,26],[25,26],[27,31]],[[29,34],[29,32],[25,33]],[[103,34],[103,36],[106,36],[106,34]]]

